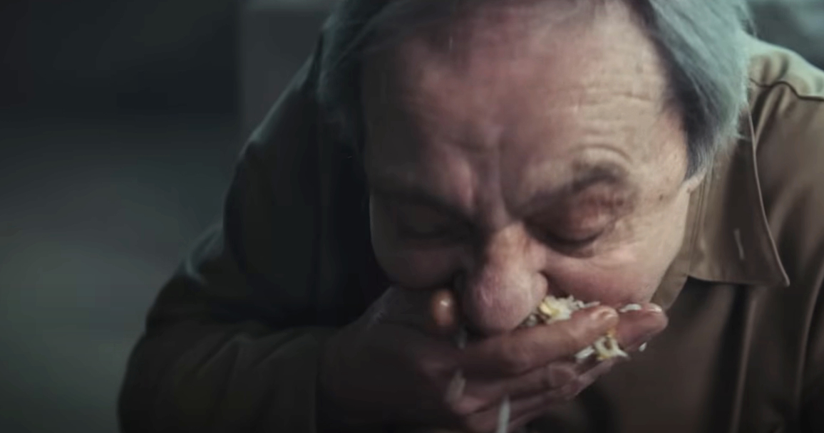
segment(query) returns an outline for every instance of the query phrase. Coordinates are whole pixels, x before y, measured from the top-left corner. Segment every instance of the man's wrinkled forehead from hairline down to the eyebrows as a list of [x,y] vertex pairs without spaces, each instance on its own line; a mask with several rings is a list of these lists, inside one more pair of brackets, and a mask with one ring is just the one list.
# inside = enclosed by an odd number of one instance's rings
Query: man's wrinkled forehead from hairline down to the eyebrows
[[503,176],[508,188],[555,184],[606,156],[640,176],[661,154],[651,143],[673,137],[659,122],[666,75],[630,11],[607,3],[547,26],[536,13],[551,10],[478,9],[368,58],[367,170],[377,159],[421,179]]

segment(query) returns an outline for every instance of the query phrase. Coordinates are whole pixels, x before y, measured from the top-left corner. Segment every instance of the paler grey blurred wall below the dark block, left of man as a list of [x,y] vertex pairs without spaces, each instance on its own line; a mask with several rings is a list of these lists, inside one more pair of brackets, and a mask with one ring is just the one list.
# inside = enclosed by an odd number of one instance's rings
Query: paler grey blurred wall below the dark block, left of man
[[235,137],[214,115],[0,115],[0,431],[116,431],[143,315],[218,217]]

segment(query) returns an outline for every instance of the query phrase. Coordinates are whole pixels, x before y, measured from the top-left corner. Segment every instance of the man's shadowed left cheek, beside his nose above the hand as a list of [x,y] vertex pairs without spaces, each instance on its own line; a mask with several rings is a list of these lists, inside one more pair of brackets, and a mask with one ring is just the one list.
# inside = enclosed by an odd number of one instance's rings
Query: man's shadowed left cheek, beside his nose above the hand
[[455,277],[460,252],[452,248],[415,248],[397,239],[386,215],[370,206],[372,249],[391,282],[409,289],[444,286]]

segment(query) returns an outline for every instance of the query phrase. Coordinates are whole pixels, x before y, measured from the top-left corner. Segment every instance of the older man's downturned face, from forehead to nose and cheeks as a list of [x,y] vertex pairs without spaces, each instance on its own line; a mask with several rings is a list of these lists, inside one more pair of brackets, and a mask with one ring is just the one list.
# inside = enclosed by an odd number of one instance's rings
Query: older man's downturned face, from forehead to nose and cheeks
[[546,295],[649,300],[696,183],[629,12],[549,30],[539,13],[481,7],[363,65],[378,262],[400,286],[455,286],[480,333]]

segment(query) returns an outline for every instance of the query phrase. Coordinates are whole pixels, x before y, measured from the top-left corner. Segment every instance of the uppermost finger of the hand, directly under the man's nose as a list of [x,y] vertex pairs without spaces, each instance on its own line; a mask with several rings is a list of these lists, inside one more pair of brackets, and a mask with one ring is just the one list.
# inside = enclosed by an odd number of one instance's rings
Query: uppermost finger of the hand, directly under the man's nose
[[600,306],[576,312],[569,320],[471,342],[460,363],[467,375],[501,378],[522,375],[541,365],[573,356],[618,323],[616,310]]

